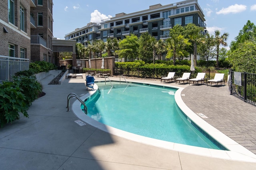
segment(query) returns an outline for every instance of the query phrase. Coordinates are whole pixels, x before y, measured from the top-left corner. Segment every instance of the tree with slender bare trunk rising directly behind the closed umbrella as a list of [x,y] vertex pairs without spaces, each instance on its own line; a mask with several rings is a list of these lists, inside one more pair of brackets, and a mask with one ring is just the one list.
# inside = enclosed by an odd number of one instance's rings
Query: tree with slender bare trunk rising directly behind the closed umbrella
[[202,27],[196,26],[194,23],[188,23],[185,26],[186,37],[192,41],[193,51],[194,51],[194,65],[196,66],[196,58],[197,58],[197,45],[202,41],[202,31],[204,29]]

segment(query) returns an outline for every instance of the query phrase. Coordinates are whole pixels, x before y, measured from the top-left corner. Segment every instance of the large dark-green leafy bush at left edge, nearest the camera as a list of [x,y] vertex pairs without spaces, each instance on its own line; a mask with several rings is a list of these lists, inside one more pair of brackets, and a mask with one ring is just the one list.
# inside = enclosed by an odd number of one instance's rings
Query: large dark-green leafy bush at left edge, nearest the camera
[[0,86],[0,126],[6,123],[12,123],[16,119],[20,119],[19,113],[23,113],[28,117],[28,105],[26,97],[22,94],[22,89],[13,82],[3,82]]

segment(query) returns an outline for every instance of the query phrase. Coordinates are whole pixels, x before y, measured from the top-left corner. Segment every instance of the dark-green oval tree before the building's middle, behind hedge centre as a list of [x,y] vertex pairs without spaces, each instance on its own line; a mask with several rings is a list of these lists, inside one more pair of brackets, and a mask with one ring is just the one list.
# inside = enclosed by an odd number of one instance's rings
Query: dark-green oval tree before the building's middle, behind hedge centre
[[[153,57],[153,38],[146,32],[139,38],[139,58],[142,61],[149,61]],[[155,42],[155,41],[154,41]]]

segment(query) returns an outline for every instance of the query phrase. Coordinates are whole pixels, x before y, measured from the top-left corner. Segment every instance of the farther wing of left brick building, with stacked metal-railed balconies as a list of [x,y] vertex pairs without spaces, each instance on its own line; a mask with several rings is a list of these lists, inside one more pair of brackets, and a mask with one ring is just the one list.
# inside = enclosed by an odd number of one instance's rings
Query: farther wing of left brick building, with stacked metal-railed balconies
[[35,7],[30,8],[31,20],[31,61],[55,63],[52,53],[53,17],[52,0],[33,0]]

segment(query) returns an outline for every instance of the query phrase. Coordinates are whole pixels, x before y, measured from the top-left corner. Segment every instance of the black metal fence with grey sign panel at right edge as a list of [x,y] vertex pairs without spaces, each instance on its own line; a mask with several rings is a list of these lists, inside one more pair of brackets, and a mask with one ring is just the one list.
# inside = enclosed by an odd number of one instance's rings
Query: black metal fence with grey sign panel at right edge
[[256,74],[230,70],[230,94],[256,106]]

